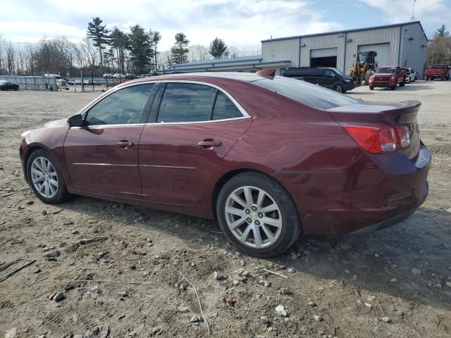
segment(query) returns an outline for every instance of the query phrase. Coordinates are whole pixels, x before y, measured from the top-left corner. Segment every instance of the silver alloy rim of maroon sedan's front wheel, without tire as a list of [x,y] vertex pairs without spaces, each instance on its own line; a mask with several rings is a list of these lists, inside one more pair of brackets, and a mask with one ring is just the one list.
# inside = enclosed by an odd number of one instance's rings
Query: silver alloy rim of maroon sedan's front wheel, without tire
[[30,170],[36,191],[46,199],[54,197],[58,192],[58,175],[54,165],[45,157],[37,157],[31,163]]

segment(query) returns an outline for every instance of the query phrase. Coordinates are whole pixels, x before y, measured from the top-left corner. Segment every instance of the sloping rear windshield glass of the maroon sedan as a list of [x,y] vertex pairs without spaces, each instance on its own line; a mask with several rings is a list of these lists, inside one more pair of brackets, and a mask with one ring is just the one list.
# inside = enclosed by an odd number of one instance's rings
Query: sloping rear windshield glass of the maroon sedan
[[272,80],[256,80],[251,83],[316,109],[337,108],[358,102],[333,90],[288,77],[276,76]]

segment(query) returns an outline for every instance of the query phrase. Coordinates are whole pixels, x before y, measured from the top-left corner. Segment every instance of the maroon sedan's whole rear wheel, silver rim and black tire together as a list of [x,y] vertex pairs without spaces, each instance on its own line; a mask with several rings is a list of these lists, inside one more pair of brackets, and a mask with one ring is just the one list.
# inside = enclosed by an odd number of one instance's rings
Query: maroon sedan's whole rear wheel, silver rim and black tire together
[[297,208],[290,194],[261,173],[241,173],[226,182],[216,213],[227,239],[249,255],[278,256],[299,237]]

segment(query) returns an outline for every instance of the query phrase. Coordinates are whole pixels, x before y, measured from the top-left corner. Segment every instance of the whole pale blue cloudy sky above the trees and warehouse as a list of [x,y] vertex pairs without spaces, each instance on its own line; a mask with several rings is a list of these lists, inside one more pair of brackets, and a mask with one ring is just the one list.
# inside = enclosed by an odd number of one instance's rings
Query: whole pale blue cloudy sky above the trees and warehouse
[[[36,42],[42,37],[85,37],[99,16],[109,28],[139,23],[159,30],[160,51],[177,32],[207,46],[221,37],[228,46],[259,51],[261,39],[408,22],[413,0],[14,0],[0,6],[0,38]],[[451,29],[451,0],[417,0],[416,20],[431,37]]]

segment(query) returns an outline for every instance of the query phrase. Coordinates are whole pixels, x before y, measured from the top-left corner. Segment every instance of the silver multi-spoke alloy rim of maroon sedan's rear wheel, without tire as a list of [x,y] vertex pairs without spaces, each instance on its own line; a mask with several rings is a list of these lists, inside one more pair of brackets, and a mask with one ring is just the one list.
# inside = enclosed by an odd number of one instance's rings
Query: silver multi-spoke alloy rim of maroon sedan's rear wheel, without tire
[[277,242],[282,231],[282,214],[276,201],[252,186],[235,189],[226,201],[226,222],[242,244],[261,249]]

